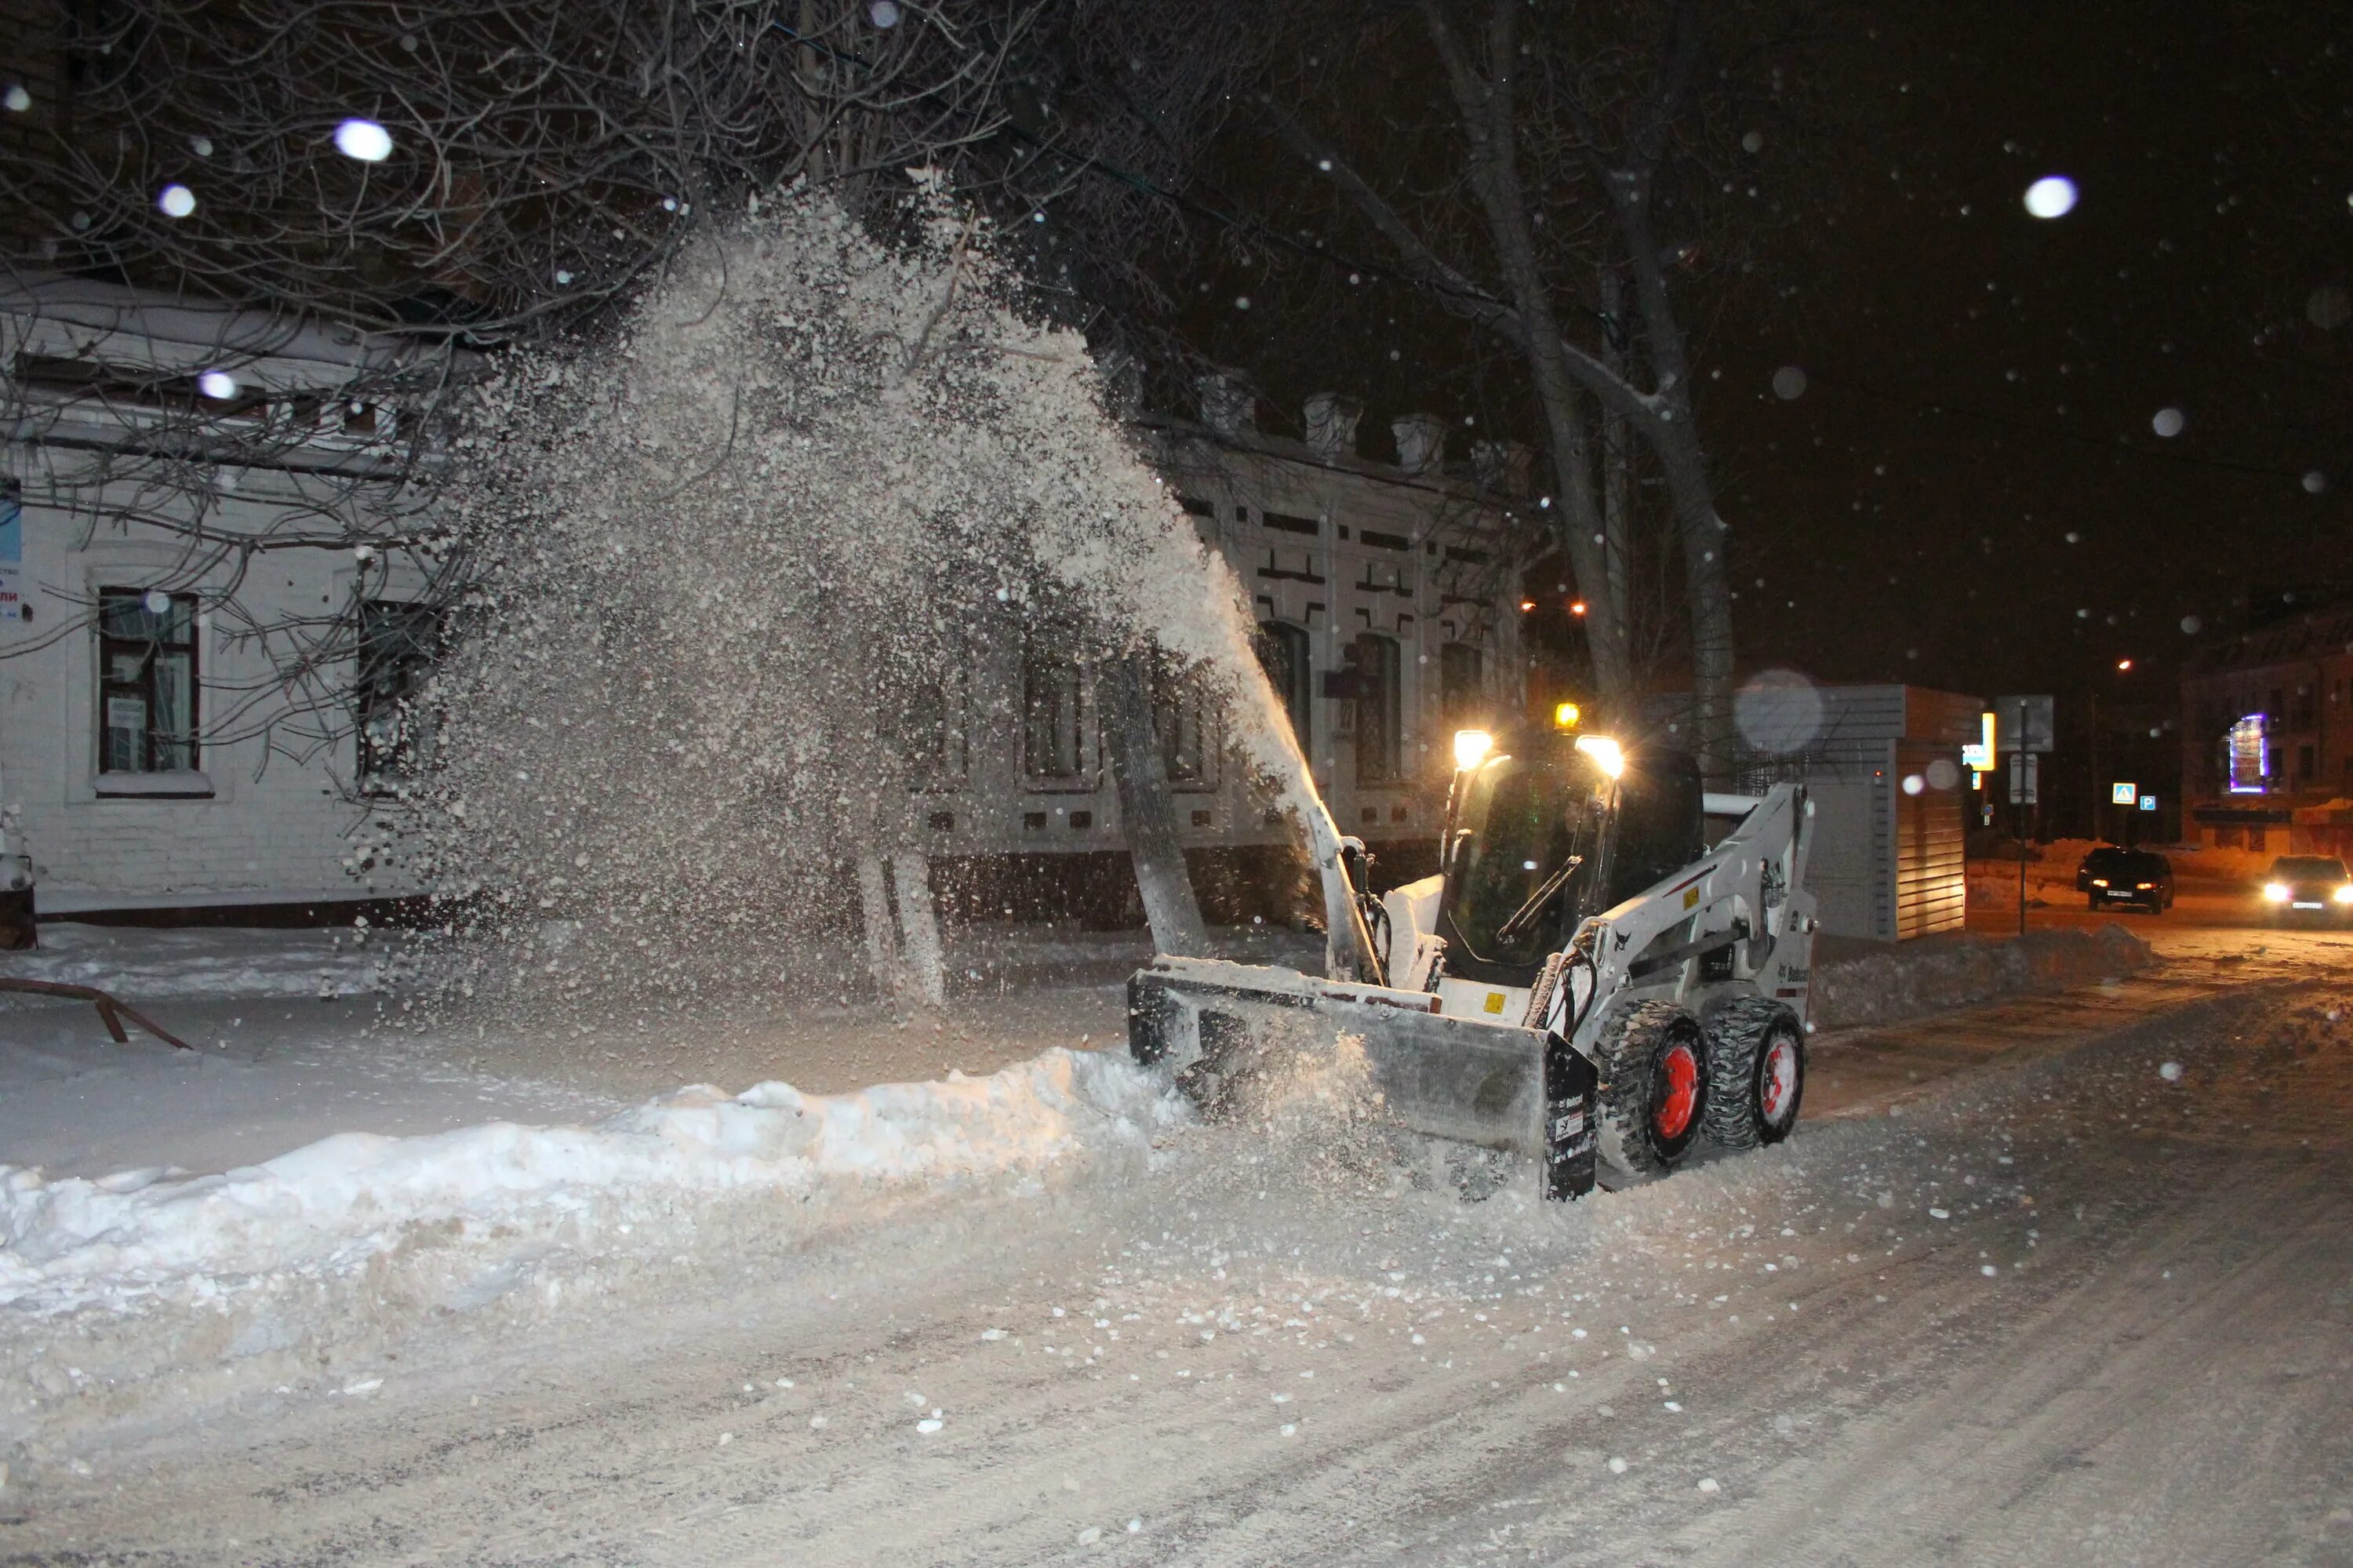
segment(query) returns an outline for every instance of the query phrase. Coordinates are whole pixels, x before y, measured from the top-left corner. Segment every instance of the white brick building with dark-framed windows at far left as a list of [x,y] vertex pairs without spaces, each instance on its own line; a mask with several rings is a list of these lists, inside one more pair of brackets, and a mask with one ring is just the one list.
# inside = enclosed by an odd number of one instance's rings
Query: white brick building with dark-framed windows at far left
[[0,297],[0,805],[42,913],[301,904],[376,888],[358,671],[306,669],[421,572],[398,511],[409,344],[85,280]]

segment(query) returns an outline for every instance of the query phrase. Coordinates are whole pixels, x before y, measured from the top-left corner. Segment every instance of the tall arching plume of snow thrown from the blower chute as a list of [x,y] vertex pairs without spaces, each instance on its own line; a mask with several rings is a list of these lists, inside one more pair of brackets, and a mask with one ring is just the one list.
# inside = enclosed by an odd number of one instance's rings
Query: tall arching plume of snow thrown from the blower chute
[[449,485],[468,636],[438,680],[431,829],[398,850],[496,956],[478,977],[812,979],[807,954],[845,951],[812,937],[856,923],[845,862],[913,838],[965,671],[1026,626],[1212,671],[1245,751],[1301,789],[1238,584],[1082,339],[1007,297],[944,207],[885,247],[791,193],[706,235],[612,341],[485,388]]

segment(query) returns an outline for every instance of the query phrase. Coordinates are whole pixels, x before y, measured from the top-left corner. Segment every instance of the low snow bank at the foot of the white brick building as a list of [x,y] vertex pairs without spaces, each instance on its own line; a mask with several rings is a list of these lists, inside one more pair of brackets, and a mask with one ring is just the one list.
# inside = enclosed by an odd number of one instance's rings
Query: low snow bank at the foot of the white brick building
[[144,930],[47,923],[40,946],[0,954],[9,979],[99,986],[139,1005],[160,998],[372,996],[409,979],[395,939],[351,930]]

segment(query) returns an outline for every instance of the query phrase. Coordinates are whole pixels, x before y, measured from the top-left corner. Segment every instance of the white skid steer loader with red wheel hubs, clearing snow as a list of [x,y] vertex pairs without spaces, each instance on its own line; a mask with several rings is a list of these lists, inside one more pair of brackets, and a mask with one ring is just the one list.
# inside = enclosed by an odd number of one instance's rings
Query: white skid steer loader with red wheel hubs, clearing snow
[[1701,1135],[1786,1137],[1817,925],[1805,786],[1708,793],[1689,756],[1588,735],[1574,704],[1464,730],[1454,760],[1438,876],[1372,899],[1311,793],[1329,975],[1155,958],[1127,984],[1134,1057],[1217,1116],[1355,1041],[1388,1118],[1537,1158],[1548,1198],[1661,1175]]

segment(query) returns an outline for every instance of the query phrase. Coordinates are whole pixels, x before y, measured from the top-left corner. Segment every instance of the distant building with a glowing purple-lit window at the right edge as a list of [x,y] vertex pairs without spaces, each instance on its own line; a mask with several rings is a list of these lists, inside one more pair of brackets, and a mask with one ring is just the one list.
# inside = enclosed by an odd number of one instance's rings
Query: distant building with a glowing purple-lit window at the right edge
[[2181,671],[2184,833],[2353,852],[2353,603],[2209,638]]

